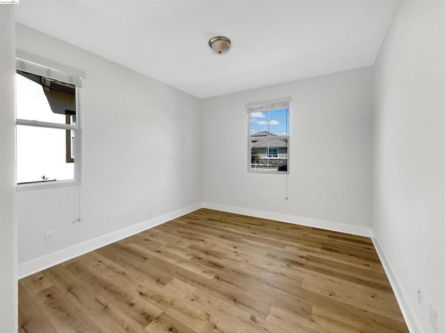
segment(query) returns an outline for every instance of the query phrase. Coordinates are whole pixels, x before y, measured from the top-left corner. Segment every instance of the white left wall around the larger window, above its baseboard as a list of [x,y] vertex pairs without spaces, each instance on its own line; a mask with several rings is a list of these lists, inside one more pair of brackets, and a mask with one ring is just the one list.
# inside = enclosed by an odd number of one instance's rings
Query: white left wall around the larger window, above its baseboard
[[[199,99],[20,24],[17,49],[85,73],[81,221],[76,187],[17,193],[20,275],[79,248],[33,265],[39,257],[200,203]],[[49,230],[56,241],[44,244]]]

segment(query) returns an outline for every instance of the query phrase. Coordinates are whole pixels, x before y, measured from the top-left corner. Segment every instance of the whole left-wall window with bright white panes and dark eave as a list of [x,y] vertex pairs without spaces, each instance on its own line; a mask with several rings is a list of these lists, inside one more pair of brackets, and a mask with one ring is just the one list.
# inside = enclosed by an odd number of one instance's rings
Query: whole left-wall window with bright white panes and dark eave
[[80,78],[17,59],[18,189],[80,179]]

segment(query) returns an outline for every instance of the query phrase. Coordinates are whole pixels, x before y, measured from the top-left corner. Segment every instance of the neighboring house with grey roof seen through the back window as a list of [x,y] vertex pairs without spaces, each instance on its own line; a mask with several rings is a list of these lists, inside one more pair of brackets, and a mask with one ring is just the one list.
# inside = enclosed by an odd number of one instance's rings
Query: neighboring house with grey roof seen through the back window
[[[273,138],[277,137],[277,138]],[[252,140],[251,148],[259,153],[259,164],[273,164],[280,166],[287,164],[288,139],[278,137],[266,130],[250,135]]]

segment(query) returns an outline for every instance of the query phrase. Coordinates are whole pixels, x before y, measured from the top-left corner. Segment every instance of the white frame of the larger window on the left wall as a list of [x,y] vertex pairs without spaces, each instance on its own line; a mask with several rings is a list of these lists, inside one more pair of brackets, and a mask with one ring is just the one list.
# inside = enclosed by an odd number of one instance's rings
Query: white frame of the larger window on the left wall
[[[15,126],[34,126],[40,128],[56,128],[60,130],[66,130],[67,133],[74,131],[75,144],[74,144],[74,175],[70,180],[56,180],[51,182],[30,182],[17,184],[16,190],[20,191],[35,191],[42,189],[57,189],[62,187],[72,187],[81,185],[81,173],[82,173],[82,130],[81,130],[81,75],[79,70],[72,69],[65,65],[52,62],[51,60],[45,60],[36,56],[30,56],[24,52],[17,50],[16,57],[16,71],[25,71],[30,74],[44,76],[61,82],[70,83],[75,87],[76,94],[76,124],[70,123],[50,123],[47,121],[36,121],[29,119],[19,119],[16,117]],[[16,87],[17,89],[17,87]],[[67,138],[67,135],[65,135]],[[65,146],[67,142],[65,141]]]

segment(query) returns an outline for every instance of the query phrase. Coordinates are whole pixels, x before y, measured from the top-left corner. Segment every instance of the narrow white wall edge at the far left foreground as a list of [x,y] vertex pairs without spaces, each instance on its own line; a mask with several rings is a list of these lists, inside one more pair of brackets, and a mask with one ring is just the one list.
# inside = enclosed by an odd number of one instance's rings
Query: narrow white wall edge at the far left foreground
[[0,6],[0,323],[17,332],[14,6]]

